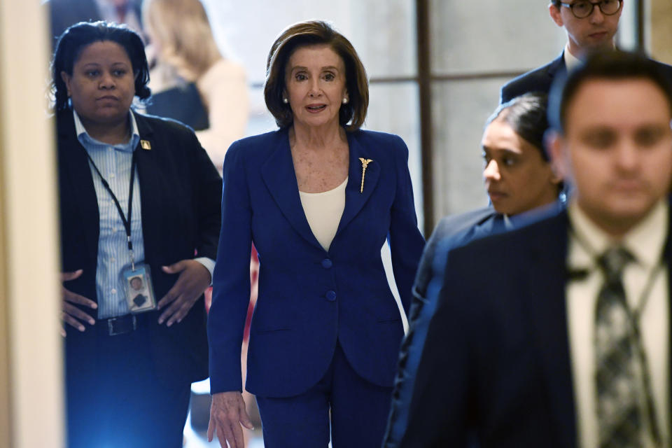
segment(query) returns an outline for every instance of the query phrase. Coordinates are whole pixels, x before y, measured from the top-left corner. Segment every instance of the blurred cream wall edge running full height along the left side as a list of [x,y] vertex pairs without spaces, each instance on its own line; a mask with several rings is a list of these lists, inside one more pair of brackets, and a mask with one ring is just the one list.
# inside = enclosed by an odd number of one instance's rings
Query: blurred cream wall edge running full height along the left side
[[54,139],[39,1],[0,1],[0,447],[63,447]]

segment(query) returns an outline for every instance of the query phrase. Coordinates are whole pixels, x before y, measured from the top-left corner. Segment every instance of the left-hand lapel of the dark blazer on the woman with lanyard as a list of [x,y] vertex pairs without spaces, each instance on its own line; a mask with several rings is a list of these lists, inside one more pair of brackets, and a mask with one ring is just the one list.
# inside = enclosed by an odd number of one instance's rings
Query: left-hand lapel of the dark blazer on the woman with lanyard
[[69,193],[73,195],[73,202],[80,210],[79,219],[87,253],[94,254],[92,260],[95,262],[98,254],[100,214],[91,167],[85,154],[86,150],[75,135],[72,111],[60,113],[58,123],[59,171],[69,179],[71,186]]

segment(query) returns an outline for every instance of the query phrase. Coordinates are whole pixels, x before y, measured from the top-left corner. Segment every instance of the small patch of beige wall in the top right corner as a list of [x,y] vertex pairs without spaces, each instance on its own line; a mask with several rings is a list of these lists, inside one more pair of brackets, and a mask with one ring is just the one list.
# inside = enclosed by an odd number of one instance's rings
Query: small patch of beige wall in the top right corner
[[646,43],[654,59],[672,64],[672,1],[648,0]]

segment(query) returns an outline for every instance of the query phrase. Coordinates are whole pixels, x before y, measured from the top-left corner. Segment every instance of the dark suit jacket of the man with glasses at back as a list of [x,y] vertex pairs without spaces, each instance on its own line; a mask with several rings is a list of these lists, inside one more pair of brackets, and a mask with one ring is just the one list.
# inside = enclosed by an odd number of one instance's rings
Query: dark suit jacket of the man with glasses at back
[[[517,78],[513,78],[508,83],[502,86],[500,91],[499,103],[504,104],[515,97],[528,92],[543,92],[548,94],[551,90],[553,80],[557,76],[567,73],[567,66],[565,65],[564,50],[558,57],[538,69],[523,73]],[[672,66],[657,62],[661,71],[666,74],[672,82]]]

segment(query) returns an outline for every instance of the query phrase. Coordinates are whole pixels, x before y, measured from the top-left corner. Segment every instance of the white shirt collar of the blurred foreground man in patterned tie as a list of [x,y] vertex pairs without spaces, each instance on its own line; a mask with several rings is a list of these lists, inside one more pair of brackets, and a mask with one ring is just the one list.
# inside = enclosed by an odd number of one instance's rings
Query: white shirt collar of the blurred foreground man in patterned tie
[[635,257],[637,262],[652,268],[661,259],[665,239],[668,233],[669,206],[665,199],[659,200],[653,209],[634,228],[615,241],[578,207],[575,200],[570,201],[568,214],[574,232],[584,241],[590,241],[594,255],[603,253],[608,246],[619,242]]

